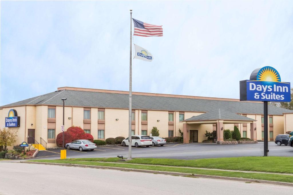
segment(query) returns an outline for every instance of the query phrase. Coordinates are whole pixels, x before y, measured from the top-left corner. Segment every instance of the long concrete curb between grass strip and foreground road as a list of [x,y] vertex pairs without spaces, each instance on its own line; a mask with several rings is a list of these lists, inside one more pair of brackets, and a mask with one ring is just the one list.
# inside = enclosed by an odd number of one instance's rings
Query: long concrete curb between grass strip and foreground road
[[21,161],[21,163],[44,164],[44,165],[60,165],[60,166],[68,166],[68,167],[84,167],[84,168],[96,168],[96,169],[112,169],[112,170],[122,170],[122,171],[135,171],[135,172],[156,173],[156,174],[164,174],[164,175],[200,177],[200,178],[207,178],[207,179],[230,180],[230,181],[251,182],[251,183],[261,183],[261,184],[271,184],[271,185],[280,185],[280,186],[293,187],[293,183],[267,181],[267,180],[254,180],[254,179],[246,179],[246,178],[238,178],[238,177],[224,177],[224,176],[214,176],[214,175],[198,175],[198,174],[192,174],[192,173],[180,173],[180,172],[169,172],[169,171],[154,171],[154,170],[132,169],[132,168],[121,168],[121,167],[108,167],[108,166],[98,166],[98,165],[78,165],[78,164],[44,163],[44,162],[28,162],[28,161]]

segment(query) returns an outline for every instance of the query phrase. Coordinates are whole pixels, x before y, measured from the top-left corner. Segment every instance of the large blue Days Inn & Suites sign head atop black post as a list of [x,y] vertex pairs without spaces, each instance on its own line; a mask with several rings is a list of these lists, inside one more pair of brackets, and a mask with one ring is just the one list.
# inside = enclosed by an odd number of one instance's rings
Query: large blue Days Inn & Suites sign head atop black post
[[281,82],[278,71],[270,66],[255,69],[250,80],[240,81],[240,101],[290,102],[290,83]]

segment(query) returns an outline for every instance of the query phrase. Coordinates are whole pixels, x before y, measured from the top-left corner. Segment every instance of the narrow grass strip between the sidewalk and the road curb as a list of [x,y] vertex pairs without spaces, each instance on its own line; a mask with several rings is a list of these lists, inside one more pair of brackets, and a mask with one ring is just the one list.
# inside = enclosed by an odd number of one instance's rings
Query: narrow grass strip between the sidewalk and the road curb
[[155,170],[155,171],[171,171],[171,172],[191,173],[191,174],[199,174],[199,175],[215,175],[215,176],[224,176],[224,177],[238,177],[238,178],[247,178],[247,179],[255,179],[255,180],[268,180],[268,181],[293,183],[292,176],[266,174],[266,173],[243,173],[243,172],[215,171],[215,170],[203,170],[203,169],[189,169],[189,168],[180,168],[180,167],[132,165],[129,163],[125,163],[125,164],[100,163],[100,162],[93,162],[93,161],[68,161],[68,160],[31,160],[31,161],[47,162],[47,163],[62,163],[62,164],[122,167],[122,168],[134,168],[134,169],[144,169],[144,170]]

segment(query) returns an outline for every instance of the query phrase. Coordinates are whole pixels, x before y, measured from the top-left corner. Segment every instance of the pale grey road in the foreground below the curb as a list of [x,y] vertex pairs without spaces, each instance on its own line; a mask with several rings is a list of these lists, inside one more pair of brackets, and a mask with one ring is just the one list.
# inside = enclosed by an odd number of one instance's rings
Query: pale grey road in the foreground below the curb
[[0,194],[291,194],[291,187],[171,175],[0,162]]

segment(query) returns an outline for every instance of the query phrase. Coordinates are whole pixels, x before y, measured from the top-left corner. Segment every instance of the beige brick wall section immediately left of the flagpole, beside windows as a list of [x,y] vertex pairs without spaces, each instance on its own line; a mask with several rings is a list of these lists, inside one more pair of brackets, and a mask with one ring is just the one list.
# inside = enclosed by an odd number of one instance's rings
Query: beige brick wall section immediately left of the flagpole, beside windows
[[105,139],[118,136],[128,137],[128,110],[106,108]]

